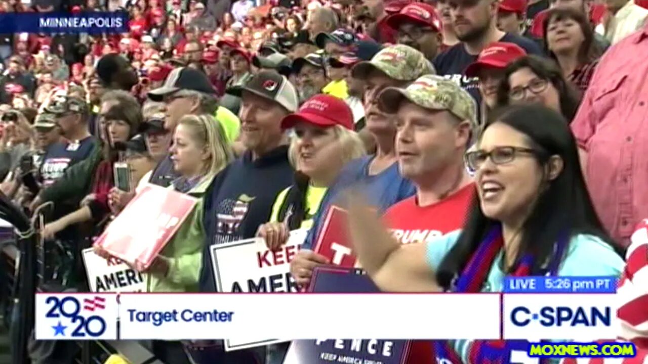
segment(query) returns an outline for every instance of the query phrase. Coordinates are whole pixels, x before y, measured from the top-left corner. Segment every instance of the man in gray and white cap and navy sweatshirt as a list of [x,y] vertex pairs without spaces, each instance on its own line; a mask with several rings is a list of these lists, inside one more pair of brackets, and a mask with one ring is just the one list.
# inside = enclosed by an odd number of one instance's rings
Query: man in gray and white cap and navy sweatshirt
[[[299,108],[295,86],[281,74],[261,71],[229,92],[241,98],[240,141],[246,152],[214,179],[205,194],[202,292],[216,291],[209,247],[253,238],[259,225],[268,222],[279,192],[294,180],[288,134],[281,122]],[[265,362],[265,347],[225,352],[220,341],[202,341],[187,349],[198,364]]]

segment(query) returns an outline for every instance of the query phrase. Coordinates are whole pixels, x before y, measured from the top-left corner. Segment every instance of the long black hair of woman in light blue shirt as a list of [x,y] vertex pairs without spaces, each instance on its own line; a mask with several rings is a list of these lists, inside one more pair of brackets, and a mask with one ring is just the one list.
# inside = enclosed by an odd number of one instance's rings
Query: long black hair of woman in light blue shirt
[[[511,106],[490,116],[492,119],[484,130],[501,122],[526,135],[529,147],[536,151],[538,164],[545,165],[552,155],[558,155],[564,162],[559,176],[538,191],[537,203],[522,225],[515,264],[508,267],[508,271],[516,269],[522,256],[531,254],[535,258],[531,275],[541,274],[544,264],[553,254],[553,243],[565,234],[568,237],[592,234],[620,254],[618,245],[605,233],[594,210],[581,172],[576,141],[564,118],[540,105]],[[463,272],[472,254],[496,223],[483,214],[475,194],[463,231],[437,270],[437,281],[442,287],[451,288],[452,280]],[[566,247],[564,251],[568,249]]]

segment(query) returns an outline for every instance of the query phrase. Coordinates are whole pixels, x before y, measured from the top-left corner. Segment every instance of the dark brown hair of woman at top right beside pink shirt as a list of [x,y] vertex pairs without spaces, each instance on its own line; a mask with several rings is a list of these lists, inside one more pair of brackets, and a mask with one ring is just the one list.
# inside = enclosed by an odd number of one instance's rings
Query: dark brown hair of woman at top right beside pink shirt
[[578,23],[583,32],[583,43],[581,44],[581,49],[578,51],[578,62],[581,65],[586,63],[593,62],[597,60],[603,54],[603,50],[599,49],[594,42],[594,29],[590,24],[590,20],[587,19],[583,13],[577,12],[571,8],[553,8],[547,12],[547,16],[542,22],[542,39],[544,39],[544,53],[549,54],[551,58],[556,59],[555,54],[549,50],[549,42],[547,41],[547,30],[549,28],[549,23],[551,21],[561,21],[566,19],[572,19]]

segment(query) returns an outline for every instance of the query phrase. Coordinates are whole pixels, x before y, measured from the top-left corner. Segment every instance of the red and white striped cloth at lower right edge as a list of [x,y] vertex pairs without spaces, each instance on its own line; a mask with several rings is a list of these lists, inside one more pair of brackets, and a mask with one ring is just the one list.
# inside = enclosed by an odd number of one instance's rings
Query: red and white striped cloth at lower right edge
[[634,358],[566,358],[562,364],[648,364],[648,219],[632,234],[616,295],[621,325],[618,339],[634,343],[637,355]]

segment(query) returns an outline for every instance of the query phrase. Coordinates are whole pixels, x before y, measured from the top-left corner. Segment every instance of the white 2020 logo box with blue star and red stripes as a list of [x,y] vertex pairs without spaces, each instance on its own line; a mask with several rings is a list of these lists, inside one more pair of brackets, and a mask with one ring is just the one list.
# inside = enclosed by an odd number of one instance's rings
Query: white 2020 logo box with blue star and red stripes
[[116,340],[116,293],[38,293],[36,339]]

